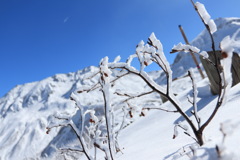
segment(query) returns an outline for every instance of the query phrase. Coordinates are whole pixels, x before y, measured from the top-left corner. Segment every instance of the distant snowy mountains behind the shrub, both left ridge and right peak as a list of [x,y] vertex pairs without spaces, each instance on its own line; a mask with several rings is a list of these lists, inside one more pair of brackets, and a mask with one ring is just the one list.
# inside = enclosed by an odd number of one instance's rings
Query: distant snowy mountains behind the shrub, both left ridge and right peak
[[[226,35],[232,35],[240,28],[240,18],[219,18],[216,20],[218,31],[214,34],[216,44]],[[225,25],[226,24],[226,25]],[[240,36],[238,36],[239,38]],[[206,44],[209,40],[206,30],[202,31],[192,42],[192,45],[201,50],[208,50]],[[208,41],[209,42],[209,41]],[[205,46],[205,47],[204,47]],[[177,55],[172,70],[174,77],[181,77],[187,70],[197,69],[188,53],[181,52]],[[73,139],[62,138],[61,143],[56,136],[69,134],[69,129],[55,129],[49,135],[46,135],[46,127],[56,112],[73,113],[75,106],[69,100],[73,91],[81,88],[83,85],[92,85],[97,82],[97,77],[92,80],[84,80],[97,72],[97,67],[90,66],[83,70],[70,72],[67,74],[56,74],[41,81],[18,85],[9,91],[4,97],[0,98],[0,119],[2,126],[0,128],[0,158],[2,159],[24,159],[24,158],[43,158],[57,153],[57,148],[64,143],[72,143]],[[154,80],[162,84],[165,76],[155,76]],[[161,71],[158,72],[159,75]],[[200,80],[200,76],[197,76]],[[130,82],[133,80],[133,82]],[[128,81],[128,84],[124,83]],[[164,84],[164,83],[163,83]],[[173,88],[177,93],[186,90],[190,84],[190,79],[182,79],[173,83]],[[138,85],[145,85],[139,79],[127,77],[117,84],[119,88],[127,85],[130,91],[136,88],[141,91]],[[143,87],[144,88],[144,87]],[[93,92],[91,100],[89,95],[81,97],[83,105],[97,106],[102,99]],[[10,125],[11,124],[11,125]],[[64,140],[63,140],[64,139]]]

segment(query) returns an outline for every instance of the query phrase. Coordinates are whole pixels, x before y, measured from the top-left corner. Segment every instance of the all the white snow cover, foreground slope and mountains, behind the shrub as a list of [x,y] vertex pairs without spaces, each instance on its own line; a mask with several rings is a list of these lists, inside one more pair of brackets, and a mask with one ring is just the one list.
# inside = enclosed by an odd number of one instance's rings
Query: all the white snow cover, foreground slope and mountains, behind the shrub
[[[232,35],[240,28],[240,18],[219,18],[215,20],[217,31],[214,33],[216,47],[221,40]],[[236,36],[239,39],[240,36]],[[164,45],[164,44],[163,44]],[[192,42],[200,51],[211,50],[210,37],[206,30],[201,32]],[[235,47],[240,53],[240,45]],[[181,77],[192,68],[196,77],[198,89],[197,105],[198,116],[202,121],[212,112],[216,105],[217,97],[210,93],[208,79],[201,80],[197,69],[190,59],[189,53],[181,52],[172,64],[173,76]],[[115,61],[119,61],[118,57]],[[57,74],[42,81],[18,85],[4,97],[0,98],[0,159],[1,160],[28,160],[28,159],[64,159],[58,148],[74,146],[79,147],[76,136],[69,127],[52,129],[46,134],[46,127],[53,120],[54,114],[65,115],[76,111],[74,103],[70,100],[72,92],[83,90],[95,84],[98,76],[91,80],[87,78],[98,72],[97,67],[88,67],[83,70]],[[115,73],[112,73],[115,74]],[[162,71],[149,73],[152,79],[163,86],[166,83]],[[173,91],[178,94],[178,99],[184,106],[184,111],[190,115],[192,104],[187,97],[192,93],[192,84],[189,77],[173,82]],[[121,93],[138,94],[146,92],[146,84],[134,76],[121,78],[115,84],[115,89]],[[119,137],[122,153],[116,155],[118,160],[217,160],[215,147],[218,146],[223,160],[240,159],[240,84],[231,88],[224,106],[219,109],[216,117],[204,132],[205,144],[199,147],[193,139],[178,130],[178,136],[172,139],[174,123],[185,121],[178,113],[167,113],[159,110],[145,112],[145,117],[134,117],[134,121],[122,130]],[[91,94],[77,96],[79,103],[86,108],[96,108],[98,114],[103,111],[101,91],[95,90]],[[152,99],[152,100],[151,100]],[[114,99],[113,104],[119,99]],[[147,102],[146,102],[147,101]],[[169,102],[162,104],[159,95],[151,94],[148,97],[134,101],[134,105],[155,106],[173,109]],[[121,108],[121,106],[120,106]],[[136,111],[137,112],[137,111]],[[193,117],[194,119],[194,117]],[[73,121],[80,125],[79,114]],[[223,134],[226,137],[223,142]],[[191,149],[195,150],[195,155]],[[100,151],[99,151],[100,153]],[[84,155],[77,153],[65,155],[66,159],[85,159]],[[104,159],[99,154],[98,159]]]

